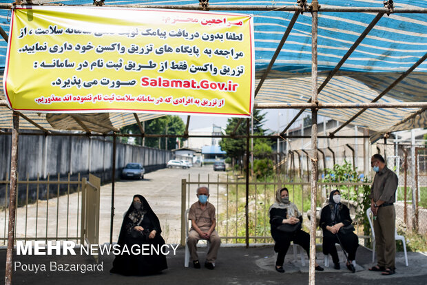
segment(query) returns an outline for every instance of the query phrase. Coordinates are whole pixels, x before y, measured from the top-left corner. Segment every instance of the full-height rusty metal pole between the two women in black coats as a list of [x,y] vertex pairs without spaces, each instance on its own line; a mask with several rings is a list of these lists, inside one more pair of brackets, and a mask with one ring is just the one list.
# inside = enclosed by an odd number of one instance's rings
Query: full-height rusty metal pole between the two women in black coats
[[[317,0],[311,2],[311,102],[317,101]],[[315,258],[316,258],[316,204],[317,204],[317,108],[311,109],[311,224],[310,224],[310,266],[309,284],[315,284]]]

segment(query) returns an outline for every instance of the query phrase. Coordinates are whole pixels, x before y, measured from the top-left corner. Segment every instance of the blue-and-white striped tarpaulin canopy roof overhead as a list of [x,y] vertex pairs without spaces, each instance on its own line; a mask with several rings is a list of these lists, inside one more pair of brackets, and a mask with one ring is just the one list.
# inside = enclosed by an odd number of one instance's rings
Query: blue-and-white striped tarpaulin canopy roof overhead
[[[43,1],[44,3],[63,3],[65,5],[92,5],[92,1]],[[108,1],[105,6],[121,5],[156,5],[176,6],[194,4],[198,1]],[[272,5],[271,1],[225,0],[210,1],[210,10],[215,6],[265,7]],[[298,18],[295,10],[296,1],[275,1],[270,11],[252,11],[254,17],[254,35],[256,46],[256,77],[262,78],[269,66],[273,54],[278,47],[285,30],[293,28],[285,38],[284,45],[275,59],[271,72],[267,75],[262,87],[256,94],[255,103],[306,103],[311,98],[311,14],[304,12]],[[318,86],[321,90],[318,96],[320,103],[377,103],[393,102],[427,102],[427,1],[402,0],[395,3],[395,14],[380,14],[368,12],[322,12],[332,6],[342,8],[364,7],[384,8],[383,1],[352,0],[333,1],[320,0],[321,9],[318,17]],[[274,8],[291,6],[289,11],[277,11]],[[398,13],[402,8],[418,9],[418,13]],[[419,9],[419,8],[424,8]],[[332,10],[332,9],[329,9]],[[421,11],[422,10],[422,11]],[[420,12],[421,11],[421,12]],[[423,12],[424,11],[424,12]],[[233,11],[230,12],[239,12]],[[242,11],[247,13],[248,11]],[[0,10],[3,30],[8,32],[8,10]],[[293,24],[293,20],[295,20]],[[371,23],[371,25],[370,25]],[[372,28],[372,30],[371,30]],[[366,32],[364,32],[366,30]],[[362,34],[362,36],[361,36]],[[366,36],[365,36],[366,35]],[[365,36],[365,37],[364,37]],[[360,44],[358,44],[360,42]],[[357,45],[358,44],[358,45]],[[352,47],[353,46],[353,47]],[[354,49],[348,56],[348,50]],[[6,42],[0,43],[0,66],[4,66]],[[348,56],[348,59],[346,59]],[[344,60],[343,60],[344,58]],[[421,59],[421,60],[420,60]],[[340,63],[341,61],[341,63]],[[407,72],[417,61],[421,62],[415,69]],[[340,64],[339,69],[335,68]],[[341,65],[342,64],[342,65]],[[335,68],[335,70],[334,70]],[[336,72],[337,71],[337,72]],[[333,72],[333,74],[331,74]],[[335,73],[336,72],[336,73]],[[406,72],[406,74],[404,74]],[[324,87],[326,77],[333,77]],[[404,76],[402,76],[404,74]],[[405,77],[406,75],[406,77]],[[399,78],[402,76],[404,78]],[[389,88],[393,83],[395,87]],[[389,89],[389,90],[387,90]],[[384,93],[384,95],[382,94]],[[380,96],[380,98],[377,98]],[[1,95],[0,100],[4,99]],[[12,125],[11,112],[6,107],[0,109],[0,128],[10,128]],[[360,112],[360,109],[320,109],[319,114],[340,122],[346,122]],[[74,129],[83,130],[75,118],[69,115],[63,123],[54,125],[56,118],[46,118],[45,114],[25,114],[45,129],[63,129],[74,125]],[[79,116],[79,119],[85,119]],[[87,114],[84,116],[88,116]],[[97,116],[107,116],[105,114]],[[103,125],[116,129],[135,123],[134,114],[110,114],[103,120]],[[139,120],[147,120],[161,116],[158,114],[138,114]],[[384,132],[427,127],[426,109],[366,109],[353,120],[354,125],[366,127],[377,134]],[[50,117],[50,116],[48,116]],[[96,130],[90,119],[86,118],[87,126]],[[92,120],[92,123],[94,120]],[[99,127],[99,124],[98,124]],[[31,123],[22,123],[21,128],[37,128]],[[94,128],[94,129],[92,129]],[[375,138],[377,138],[376,136]]]

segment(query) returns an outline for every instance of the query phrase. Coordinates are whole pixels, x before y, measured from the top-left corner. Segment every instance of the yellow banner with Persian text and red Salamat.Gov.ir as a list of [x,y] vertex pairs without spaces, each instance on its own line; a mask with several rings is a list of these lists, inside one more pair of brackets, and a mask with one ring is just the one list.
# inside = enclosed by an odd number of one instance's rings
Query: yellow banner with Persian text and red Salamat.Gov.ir
[[21,111],[250,116],[253,54],[247,14],[16,8],[3,86]]

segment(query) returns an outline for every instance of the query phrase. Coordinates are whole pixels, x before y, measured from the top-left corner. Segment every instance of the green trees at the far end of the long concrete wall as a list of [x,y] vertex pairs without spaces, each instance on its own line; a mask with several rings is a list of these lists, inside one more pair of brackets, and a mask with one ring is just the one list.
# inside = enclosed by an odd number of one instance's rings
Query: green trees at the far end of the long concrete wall
[[[145,134],[184,134],[185,125],[179,116],[163,116],[145,121]],[[138,125],[128,125],[121,128],[121,134],[140,134]],[[176,138],[145,138],[146,147],[159,147],[165,149],[165,142],[167,140],[167,149],[176,148]],[[182,145],[183,138],[179,138]],[[127,138],[122,138],[123,142],[127,142]],[[143,140],[140,137],[135,139],[136,145],[143,145]]]

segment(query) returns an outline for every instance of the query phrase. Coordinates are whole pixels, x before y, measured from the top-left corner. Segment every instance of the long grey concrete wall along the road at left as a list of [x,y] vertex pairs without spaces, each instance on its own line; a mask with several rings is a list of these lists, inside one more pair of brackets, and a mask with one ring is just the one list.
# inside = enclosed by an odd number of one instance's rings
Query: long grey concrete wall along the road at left
[[[11,136],[0,135],[0,180],[10,179]],[[111,138],[88,138],[80,136],[19,136],[18,173],[19,180],[71,180],[77,176],[87,177],[92,173],[101,178],[101,182],[112,179],[113,142]],[[121,169],[129,162],[139,162],[145,171],[164,168],[172,158],[171,151],[139,147],[123,143],[116,144],[116,178]],[[0,184],[0,204],[5,196],[5,184]],[[45,189],[39,189],[41,198]],[[61,191],[67,191],[61,189]],[[19,198],[25,191],[20,191]],[[34,191],[30,189],[30,198]]]

